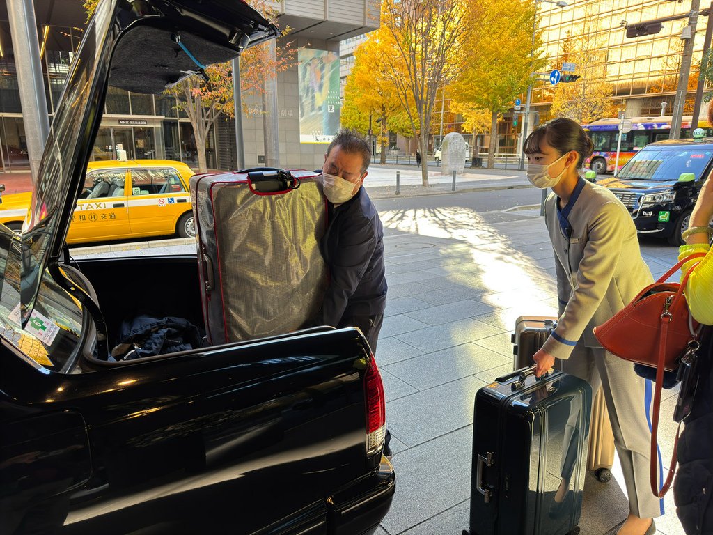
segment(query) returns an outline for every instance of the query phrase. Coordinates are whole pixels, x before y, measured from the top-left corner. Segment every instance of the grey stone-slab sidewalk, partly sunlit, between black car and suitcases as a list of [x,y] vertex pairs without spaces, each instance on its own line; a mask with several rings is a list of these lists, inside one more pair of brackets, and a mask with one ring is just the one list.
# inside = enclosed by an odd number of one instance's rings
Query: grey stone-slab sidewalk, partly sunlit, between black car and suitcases
[[[508,180],[523,178],[478,173],[463,183],[492,188]],[[376,182],[369,194],[384,222],[389,282],[376,359],[398,479],[394,503],[376,533],[460,535],[468,527],[473,397],[511,371],[515,318],[555,315],[553,253],[537,206],[476,212],[456,193],[442,195],[438,208],[384,209],[394,204],[379,200],[391,185]],[[427,191],[438,194],[441,185]],[[192,240],[151,243],[139,250],[136,244],[72,248],[72,254],[195,253]],[[665,242],[645,238],[642,252],[655,276],[677,255]],[[675,392],[665,391],[662,414],[672,414],[674,403]],[[670,458],[674,431],[672,420],[662,417],[664,459]],[[618,464],[613,472],[608,484],[588,476],[583,535],[614,534],[627,516]],[[665,499],[667,514],[657,520],[658,533],[683,535],[672,494]]]

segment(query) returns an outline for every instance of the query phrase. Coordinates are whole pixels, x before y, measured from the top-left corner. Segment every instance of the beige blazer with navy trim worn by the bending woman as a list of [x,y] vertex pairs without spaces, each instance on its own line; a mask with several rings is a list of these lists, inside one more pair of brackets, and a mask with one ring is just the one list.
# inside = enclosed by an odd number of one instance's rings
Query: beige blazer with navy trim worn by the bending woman
[[[560,214],[557,195],[550,193],[545,201],[560,318],[543,349],[560,359],[567,359],[578,343],[600,347],[594,327],[653,282],[641,258],[634,222],[621,201],[610,190],[582,178],[578,190],[578,197],[573,195]],[[560,223],[567,210],[566,220]]]

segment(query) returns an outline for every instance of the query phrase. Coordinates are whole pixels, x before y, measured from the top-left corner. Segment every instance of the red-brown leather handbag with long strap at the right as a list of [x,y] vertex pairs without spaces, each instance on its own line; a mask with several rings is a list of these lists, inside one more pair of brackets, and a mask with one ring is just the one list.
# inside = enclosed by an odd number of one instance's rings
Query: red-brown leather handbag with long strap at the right
[[[679,261],[652,285],[645,287],[632,302],[610,320],[594,328],[594,335],[608,352],[624,360],[656,368],[656,387],[651,429],[651,491],[662,498],[673,479],[677,462],[677,444],[680,430],[676,432],[669,473],[661,489],[657,486],[657,432],[661,405],[661,389],[664,371],[673,371],[687,351],[698,347],[699,325],[689,315],[683,295],[691,267],[680,284],[666,282],[682,265],[694,258],[704,257],[696,253]],[[696,264],[697,265],[697,264]]]

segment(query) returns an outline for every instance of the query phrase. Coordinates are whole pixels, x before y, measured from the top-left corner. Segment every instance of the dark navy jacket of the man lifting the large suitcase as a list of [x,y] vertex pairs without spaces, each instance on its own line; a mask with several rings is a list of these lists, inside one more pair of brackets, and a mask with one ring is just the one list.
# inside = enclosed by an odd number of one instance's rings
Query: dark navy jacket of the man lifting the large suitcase
[[336,208],[320,248],[329,266],[329,287],[322,304],[324,325],[338,327],[352,316],[374,316],[386,306],[384,228],[364,188]]

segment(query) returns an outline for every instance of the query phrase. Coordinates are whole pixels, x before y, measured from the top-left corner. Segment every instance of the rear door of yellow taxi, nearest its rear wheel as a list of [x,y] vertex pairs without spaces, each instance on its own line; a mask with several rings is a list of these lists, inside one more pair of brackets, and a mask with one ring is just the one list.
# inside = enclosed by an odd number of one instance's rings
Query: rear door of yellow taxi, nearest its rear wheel
[[190,193],[172,168],[130,170],[129,226],[133,235],[169,235],[190,210]]

